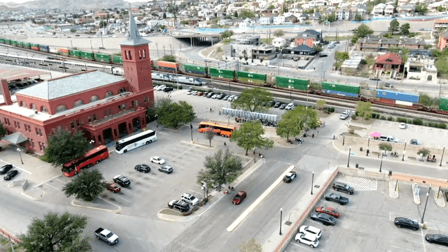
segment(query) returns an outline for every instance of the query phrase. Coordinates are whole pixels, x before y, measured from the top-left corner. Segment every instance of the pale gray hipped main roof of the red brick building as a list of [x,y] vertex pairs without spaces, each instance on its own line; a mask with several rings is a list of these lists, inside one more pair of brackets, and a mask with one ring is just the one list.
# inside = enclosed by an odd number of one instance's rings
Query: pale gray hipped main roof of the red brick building
[[84,72],[79,75],[44,81],[35,86],[20,90],[17,94],[50,100],[106,86],[122,80],[124,80],[122,77],[109,75],[106,72]]

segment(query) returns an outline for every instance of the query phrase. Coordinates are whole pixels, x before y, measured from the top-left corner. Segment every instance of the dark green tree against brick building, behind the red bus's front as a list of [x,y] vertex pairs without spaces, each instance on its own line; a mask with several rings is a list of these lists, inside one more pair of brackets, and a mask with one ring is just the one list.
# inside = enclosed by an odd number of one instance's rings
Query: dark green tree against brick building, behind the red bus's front
[[45,154],[48,162],[57,167],[77,157],[81,157],[88,150],[88,142],[81,131],[75,131],[59,126],[48,138],[48,148]]

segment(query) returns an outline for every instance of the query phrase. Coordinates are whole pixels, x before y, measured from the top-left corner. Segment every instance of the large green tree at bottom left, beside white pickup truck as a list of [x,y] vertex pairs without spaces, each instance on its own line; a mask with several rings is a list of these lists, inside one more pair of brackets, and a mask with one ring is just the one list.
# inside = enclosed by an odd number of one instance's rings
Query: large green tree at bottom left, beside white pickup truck
[[92,251],[88,238],[81,238],[86,226],[85,216],[48,212],[44,220],[31,220],[28,231],[18,235],[21,242],[17,246],[27,252]]

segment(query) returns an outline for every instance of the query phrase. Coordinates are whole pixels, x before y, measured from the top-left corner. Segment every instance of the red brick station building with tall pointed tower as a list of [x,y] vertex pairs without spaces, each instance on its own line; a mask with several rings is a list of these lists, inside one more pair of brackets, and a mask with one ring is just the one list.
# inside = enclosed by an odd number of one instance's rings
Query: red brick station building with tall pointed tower
[[81,130],[95,146],[144,128],[154,100],[148,43],[131,17],[127,39],[120,44],[124,79],[96,70],[77,73],[20,90],[17,102],[2,79],[0,121],[9,134],[26,137],[21,145],[37,153],[44,153],[58,126]]

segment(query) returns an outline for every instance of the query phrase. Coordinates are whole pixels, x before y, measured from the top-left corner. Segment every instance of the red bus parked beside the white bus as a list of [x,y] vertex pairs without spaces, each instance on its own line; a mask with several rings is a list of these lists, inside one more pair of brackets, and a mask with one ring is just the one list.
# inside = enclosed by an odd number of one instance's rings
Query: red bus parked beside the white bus
[[66,177],[73,177],[81,172],[82,168],[94,166],[109,157],[107,146],[98,146],[91,151],[87,151],[82,157],[73,159],[71,162],[62,165],[62,173]]

